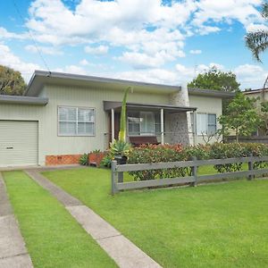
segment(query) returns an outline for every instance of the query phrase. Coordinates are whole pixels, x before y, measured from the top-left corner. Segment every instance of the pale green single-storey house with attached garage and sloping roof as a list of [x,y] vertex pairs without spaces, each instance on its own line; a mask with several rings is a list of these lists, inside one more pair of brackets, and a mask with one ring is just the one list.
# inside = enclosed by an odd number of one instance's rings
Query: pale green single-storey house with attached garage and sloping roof
[[77,163],[117,138],[127,87],[128,137],[202,143],[230,93],[35,71],[24,96],[0,95],[0,167]]

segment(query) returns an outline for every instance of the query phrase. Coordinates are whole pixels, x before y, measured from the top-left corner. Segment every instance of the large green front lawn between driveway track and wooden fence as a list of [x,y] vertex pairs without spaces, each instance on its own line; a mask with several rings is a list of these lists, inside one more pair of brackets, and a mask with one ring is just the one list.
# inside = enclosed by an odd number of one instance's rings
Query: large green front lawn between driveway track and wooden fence
[[138,190],[112,197],[108,170],[44,174],[163,267],[268,267],[267,180]]

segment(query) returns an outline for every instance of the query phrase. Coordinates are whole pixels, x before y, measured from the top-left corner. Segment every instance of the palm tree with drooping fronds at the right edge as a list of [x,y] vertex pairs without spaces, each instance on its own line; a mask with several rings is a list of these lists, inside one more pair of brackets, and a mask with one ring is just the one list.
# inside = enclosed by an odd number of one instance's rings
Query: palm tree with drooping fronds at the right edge
[[[263,4],[261,12],[264,20],[268,21],[268,4]],[[259,63],[262,63],[260,54],[268,48],[268,31],[266,29],[257,30],[255,32],[249,32],[246,36],[246,46],[251,50],[253,57]],[[263,87],[263,101],[264,101],[264,88],[268,84],[268,76],[264,82]]]

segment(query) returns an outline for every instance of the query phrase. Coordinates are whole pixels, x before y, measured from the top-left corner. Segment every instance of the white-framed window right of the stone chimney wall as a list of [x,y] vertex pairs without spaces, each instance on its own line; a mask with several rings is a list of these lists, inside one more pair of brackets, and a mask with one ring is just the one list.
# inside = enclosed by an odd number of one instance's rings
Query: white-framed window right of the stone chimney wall
[[217,130],[217,116],[215,113],[196,113],[194,120],[194,113],[191,113],[191,125],[197,135],[213,135]]

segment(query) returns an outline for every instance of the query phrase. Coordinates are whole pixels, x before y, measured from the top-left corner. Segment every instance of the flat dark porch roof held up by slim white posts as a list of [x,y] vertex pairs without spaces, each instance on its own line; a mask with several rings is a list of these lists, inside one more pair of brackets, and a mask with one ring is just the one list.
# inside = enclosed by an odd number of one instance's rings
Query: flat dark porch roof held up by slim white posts
[[[131,108],[133,110],[163,109],[164,111],[168,111],[170,113],[181,113],[181,112],[190,112],[197,110],[197,107],[176,106],[176,105],[148,105],[148,104],[137,104],[137,103],[127,103],[127,108]],[[121,109],[121,102],[104,101],[104,109],[105,111],[109,111],[111,109],[119,110]]]

